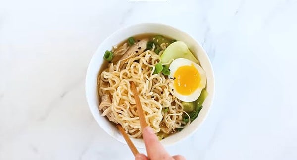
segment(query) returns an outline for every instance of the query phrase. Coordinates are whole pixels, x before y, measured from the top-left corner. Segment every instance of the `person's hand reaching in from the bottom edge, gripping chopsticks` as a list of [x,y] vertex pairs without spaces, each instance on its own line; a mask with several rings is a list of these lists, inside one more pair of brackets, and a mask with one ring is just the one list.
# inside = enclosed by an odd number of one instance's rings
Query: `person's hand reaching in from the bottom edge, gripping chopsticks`
[[184,156],[170,156],[149,126],[142,131],[148,156],[138,154],[135,160],[186,160]]

